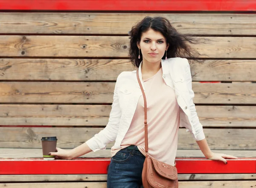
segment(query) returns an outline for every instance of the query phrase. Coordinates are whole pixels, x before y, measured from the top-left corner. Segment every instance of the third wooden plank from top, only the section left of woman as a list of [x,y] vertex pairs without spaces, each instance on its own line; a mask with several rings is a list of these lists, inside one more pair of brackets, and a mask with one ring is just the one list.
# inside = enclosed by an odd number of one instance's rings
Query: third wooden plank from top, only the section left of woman
[[[255,62],[256,64],[256,62]],[[116,81],[127,59],[0,59],[0,80]]]

